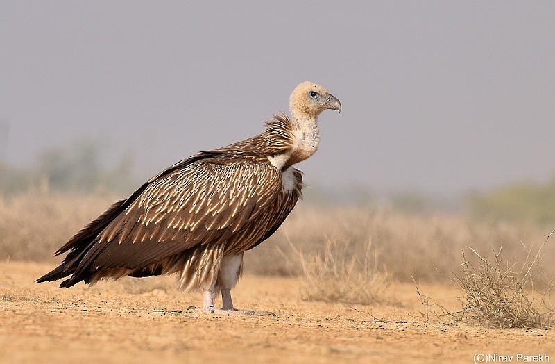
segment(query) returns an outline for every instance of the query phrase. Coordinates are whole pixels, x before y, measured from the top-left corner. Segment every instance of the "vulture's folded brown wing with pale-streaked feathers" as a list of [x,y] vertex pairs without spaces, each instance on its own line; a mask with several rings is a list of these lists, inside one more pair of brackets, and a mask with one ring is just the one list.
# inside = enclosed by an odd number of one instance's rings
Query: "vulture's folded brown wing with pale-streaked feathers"
[[103,229],[74,276],[114,267],[138,269],[199,244],[223,243],[282,199],[280,171],[270,163],[198,160],[152,180]]

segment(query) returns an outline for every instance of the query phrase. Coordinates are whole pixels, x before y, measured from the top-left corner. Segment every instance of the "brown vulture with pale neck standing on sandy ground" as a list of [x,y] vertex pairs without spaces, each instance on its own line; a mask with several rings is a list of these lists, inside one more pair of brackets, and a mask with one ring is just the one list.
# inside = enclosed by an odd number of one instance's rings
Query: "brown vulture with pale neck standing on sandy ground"
[[[182,290],[203,290],[203,308],[196,309],[252,314],[231,299],[244,251],[270,237],[293,210],[302,188],[293,165],[318,149],[318,115],[341,112],[341,103],[306,81],[293,90],[289,109],[291,116],[273,115],[263,133],[180,160],[116,201],[56,251],[67,256],[36,282],[68,277],[60,288],[69,288],[177,273]],[[221,309],[214,307],[219,292]]]

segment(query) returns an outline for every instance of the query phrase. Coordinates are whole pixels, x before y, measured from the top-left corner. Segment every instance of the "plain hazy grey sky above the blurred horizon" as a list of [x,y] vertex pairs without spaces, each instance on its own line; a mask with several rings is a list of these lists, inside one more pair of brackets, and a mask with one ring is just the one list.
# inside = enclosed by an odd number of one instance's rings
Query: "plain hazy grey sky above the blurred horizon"
[[0,161],[94,140],[141,179],[262,131],[301,81],[309,185],[452,195],[555,176],[554,1],[0,0]]

